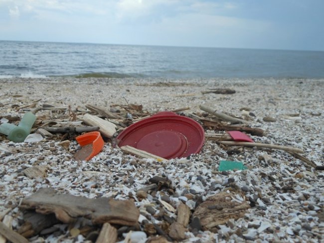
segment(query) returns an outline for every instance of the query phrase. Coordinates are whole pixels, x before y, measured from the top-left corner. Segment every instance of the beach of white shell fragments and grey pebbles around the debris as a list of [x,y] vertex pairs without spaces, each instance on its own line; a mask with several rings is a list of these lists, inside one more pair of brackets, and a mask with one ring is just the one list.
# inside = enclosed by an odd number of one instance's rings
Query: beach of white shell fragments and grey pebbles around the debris
[[[208,93],[210,89],[231,89],[235,93]],[[34,112],[34,133],[40,127],[69,122],[73,116],[80,121],[80,116],[91,113],[85,107],[88,104],[114,108],[114,112],[125,111],[123,107],[129,104],[142,105],[148,116],[188,107],[179,115],[213,119],[200,110],[203,105],[242,119],[249,127],[263,129],[264,136],[249,134],[255,142],[302,149],[305,158],[323,166],[323,94],[323,79],[11,78],[0,80],[0,119],[21,118],[25,112]],[[7,122],[17,124],[19,120]],[[208,128],[213,129],[204,126]],[[58,194],[90,199],[134,200],[141,215],[139,222],[135,226],[114,226],[118,241],[130,231],[146,232],[142,242],[154,242],[157,235],[163,237],[160,242],[174,240],[169,231],[177,220],[180,204],[189,208],[191,216],[184,227],[184,238],[175,242],[323,241],[324,172],[287,151],[231,147],[206,139],[198,154],[157,161],[126,154],[106,138],[98,155],[89,161],[76,161],[73,154],[80,146],[75,135],[63,134],[22,143],[0,134],[0,148],[0,215],[12,217],[14,231],[24,223],[21,200],[40,188],[53,188]],[[221,160],[241,161],[246,169],[220,172]],[[33,166],[43,166],[42,177],[26,176],[24,171]],[[150,179],[155,176],[166,179],[169,188],[139,193],[143,191],[139,189],[152,184]],[[233,200],[246,202],[249,208],[242,217],[210,230],[194,224],[192,214],[198,204],[221,192],[237,193],[239,199]],[[151,225],[155,231],[148,230]],[[157,231],[157,226],[162,231]],[[91,230],[86,231],[86,227]],[[49,228],[28,240],[92,242],[90,233],[100,232],[101,225],[79,219]],[[78,230],[77,234],[71,234],[71,229]]]

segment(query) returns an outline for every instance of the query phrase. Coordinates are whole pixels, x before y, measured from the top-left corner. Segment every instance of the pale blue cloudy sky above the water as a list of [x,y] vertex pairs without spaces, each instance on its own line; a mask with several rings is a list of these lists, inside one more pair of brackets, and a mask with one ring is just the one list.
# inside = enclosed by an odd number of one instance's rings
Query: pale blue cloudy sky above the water
[[324,51],[324,0],[0,0],[0,40]]

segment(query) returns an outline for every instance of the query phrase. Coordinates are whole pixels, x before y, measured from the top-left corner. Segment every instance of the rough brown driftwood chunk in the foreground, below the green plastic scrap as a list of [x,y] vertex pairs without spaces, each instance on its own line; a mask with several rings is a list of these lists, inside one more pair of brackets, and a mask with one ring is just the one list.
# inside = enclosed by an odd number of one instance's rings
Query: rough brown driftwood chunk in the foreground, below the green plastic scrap
[[[242,195],[239,195],[242,197]],[[232,200],[234,193],[220,192],[199,204],[193,213],[193,218],[200,220],[203,230],[217,232],[216,226],[225,224],[230,219],[243,217],[250,205],[246,201]]]

